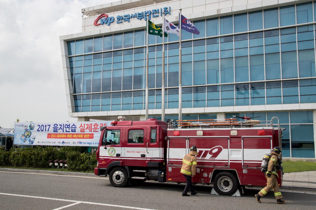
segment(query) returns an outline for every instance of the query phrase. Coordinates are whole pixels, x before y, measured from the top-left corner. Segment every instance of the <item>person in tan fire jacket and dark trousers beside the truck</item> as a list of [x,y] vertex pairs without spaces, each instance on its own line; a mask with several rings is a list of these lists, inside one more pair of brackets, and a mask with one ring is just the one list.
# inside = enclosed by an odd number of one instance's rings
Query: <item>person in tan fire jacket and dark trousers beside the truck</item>
[[182,196],[190,196],[187,194],[187,192],[191,191],[191,195],[196,195],[197,193],[194,192],[193,184],[192,184],[192,177],[194,177],[196,172],[196,166],[197,166],[197,158],[195,155],[198,155],[197,153],[197,147],[192,146],[190,148],[190,153],[186,154],[182,160],[182,167],[181,167],[181,173],[183,173],[186,184],[184,191],[182,192]]

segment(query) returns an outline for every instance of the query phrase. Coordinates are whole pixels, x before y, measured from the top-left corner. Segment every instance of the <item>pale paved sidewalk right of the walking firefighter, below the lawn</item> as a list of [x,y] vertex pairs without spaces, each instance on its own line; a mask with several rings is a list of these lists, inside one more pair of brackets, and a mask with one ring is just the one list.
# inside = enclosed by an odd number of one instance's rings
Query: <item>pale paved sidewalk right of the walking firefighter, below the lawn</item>
[[285,173],[282,185],[316,189],[316,171]]

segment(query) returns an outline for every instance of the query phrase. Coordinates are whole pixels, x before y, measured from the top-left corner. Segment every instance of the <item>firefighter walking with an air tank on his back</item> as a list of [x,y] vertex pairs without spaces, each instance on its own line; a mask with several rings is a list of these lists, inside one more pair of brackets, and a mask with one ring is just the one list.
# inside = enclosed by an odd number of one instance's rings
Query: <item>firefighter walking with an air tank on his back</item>
[[276,197],[276,203],[285,203],[283,201],[283,196],[280,192],[279,184],[277,183],[277,178],[279,177],[277,174],[277,166],[278,166],[278,158],[281,154],[280,147],[274,147],[272,153],[270,155],[268,169],[265,172],[265,178],[267,179],[267,186],[260,190],[258,194],[255,195],[257,201],[261,203],[260,198],[266,195],[271,189],[274,192],[274,196]]

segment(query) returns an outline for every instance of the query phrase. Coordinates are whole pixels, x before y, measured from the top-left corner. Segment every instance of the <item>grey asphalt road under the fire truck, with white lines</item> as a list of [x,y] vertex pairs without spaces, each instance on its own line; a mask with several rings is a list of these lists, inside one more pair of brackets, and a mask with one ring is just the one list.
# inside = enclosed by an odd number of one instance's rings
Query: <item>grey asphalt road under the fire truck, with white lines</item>
[[1,171],[0,180],[0,209],[316,209],[315,192],[283,190],[286,204],[276,204],[272,191],[258,203],[258,190],[231,197],[210,195],[210,187],[195,185],[197,195],[182,197],[184,185],[179,184],[115,188],[101,177]]

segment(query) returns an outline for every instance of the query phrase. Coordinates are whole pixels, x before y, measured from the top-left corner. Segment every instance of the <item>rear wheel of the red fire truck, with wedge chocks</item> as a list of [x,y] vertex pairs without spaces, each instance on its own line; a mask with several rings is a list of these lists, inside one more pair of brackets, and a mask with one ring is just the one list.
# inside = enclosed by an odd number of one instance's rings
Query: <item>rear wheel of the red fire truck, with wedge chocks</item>
[[219,195],[233,195],[238,188],[236,177],[229,172],[220,172],[214,178],[214,190]]

